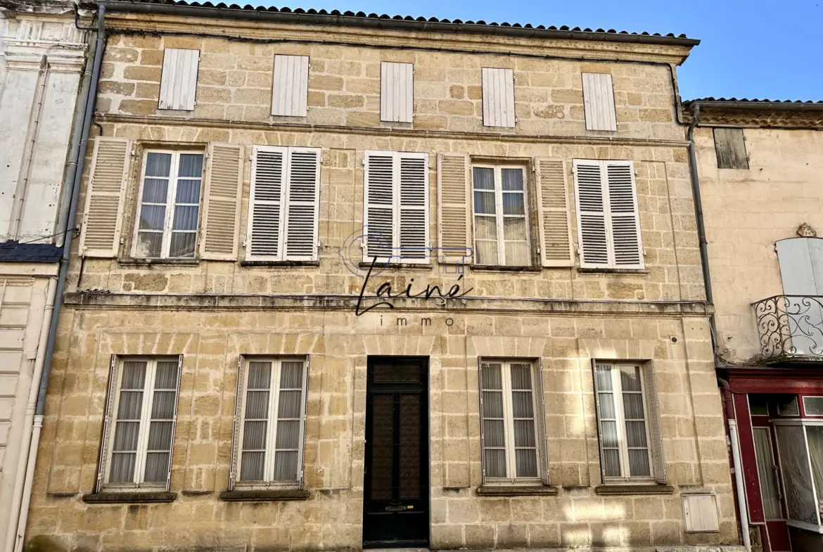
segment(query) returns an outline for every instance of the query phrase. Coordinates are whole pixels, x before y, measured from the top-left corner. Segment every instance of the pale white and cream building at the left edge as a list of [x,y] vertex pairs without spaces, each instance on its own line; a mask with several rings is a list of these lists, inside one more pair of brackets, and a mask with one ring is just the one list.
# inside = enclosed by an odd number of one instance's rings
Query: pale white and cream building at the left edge
[[[0,549],[21,508],[86,53],[75,4],[0,2]],[[70,190],[69,190],[70,191]],[[25,509],[26,507],[23,506]]]

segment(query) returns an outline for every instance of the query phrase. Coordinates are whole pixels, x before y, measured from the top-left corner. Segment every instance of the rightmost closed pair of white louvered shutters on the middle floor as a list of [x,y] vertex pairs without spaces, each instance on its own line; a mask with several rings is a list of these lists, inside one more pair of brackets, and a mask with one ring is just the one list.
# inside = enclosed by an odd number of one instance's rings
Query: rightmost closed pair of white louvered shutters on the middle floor
[[631,161],[574,160],[581,268],[644,267]]

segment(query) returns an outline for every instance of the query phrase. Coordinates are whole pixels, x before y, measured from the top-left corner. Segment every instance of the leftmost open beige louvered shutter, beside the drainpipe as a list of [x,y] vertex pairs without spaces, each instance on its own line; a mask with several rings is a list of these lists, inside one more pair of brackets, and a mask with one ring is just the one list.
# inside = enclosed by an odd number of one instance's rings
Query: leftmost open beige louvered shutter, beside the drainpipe
[[86,257],[117,257],[131,155],[131,140],[95,138],[80,236],[80,251]]

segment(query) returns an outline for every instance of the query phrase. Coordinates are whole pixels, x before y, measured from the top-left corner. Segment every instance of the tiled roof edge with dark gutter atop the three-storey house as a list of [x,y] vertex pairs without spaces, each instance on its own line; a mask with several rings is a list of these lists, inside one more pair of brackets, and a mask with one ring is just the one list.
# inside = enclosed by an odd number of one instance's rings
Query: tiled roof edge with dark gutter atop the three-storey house
[[107,10],[113,12],[142,12],[142,13],[176,13],[188,16],[212,16],[205,14],[202,10],[210,12],[216,10],[221,16],[230,16],[235,19],[256,19],[263,21],[282,21],[292,23],[314,23],[316,25],[343,25],[362,26],[383,29],[400,30],[430,30],[430,31],[451,31],[466,32],[485,35],[506,35],[522,36],[528,38],[542,39],[576,39],[576,40],[604,40],[608,42],[636,42],[643,44],[670,44],[677,46],[696,46],[700,44],[698,39],[687,38],[686,35],[675,36],[672,33],[660,35],[654,33],[650,35],[644,33],[629,33],[625,30],[620,32],[609,30],[591,30],[567,26],[531,26],[520,25],[519,23],[486,23],[486,21],[461,21],[455,19],[437,19],[436,17],[414,18],[412,16],[388,16],[377,15],[376,13],[365,14],[365,12],[339,12],[332,10],[304,10],[297,8],[291,10],[288,7],[253,7],[249,4],[239,6],[238,4],[226,4],[220,2],[185,2],[184,0],[102,0],[100,4]]

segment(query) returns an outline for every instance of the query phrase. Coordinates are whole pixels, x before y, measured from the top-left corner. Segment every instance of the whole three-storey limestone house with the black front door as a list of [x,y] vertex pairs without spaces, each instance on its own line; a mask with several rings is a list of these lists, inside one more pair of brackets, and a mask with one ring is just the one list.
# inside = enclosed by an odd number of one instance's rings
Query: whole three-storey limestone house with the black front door
[[696,40],[102,5],[30,550],[739,550]]

